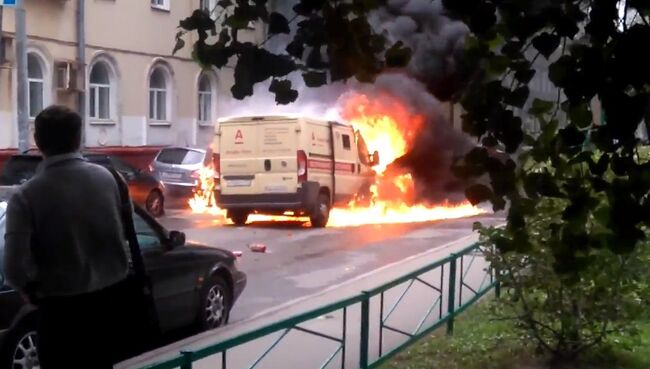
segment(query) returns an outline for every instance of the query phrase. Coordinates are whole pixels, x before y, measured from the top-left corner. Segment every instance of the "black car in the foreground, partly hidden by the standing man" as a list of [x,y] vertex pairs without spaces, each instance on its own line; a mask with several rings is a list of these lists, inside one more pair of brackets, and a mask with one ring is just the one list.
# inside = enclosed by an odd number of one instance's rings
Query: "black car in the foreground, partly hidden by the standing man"
[[[25,304],[3,277],[5,209],[6,202],[0,202],[0,368],[32,369],[38,366],[37,308]],[[246,285],[236,257],[230,251],[186,242],[182,232],[168,231],[139,206],[134,222],[163,332],[226,324]]]

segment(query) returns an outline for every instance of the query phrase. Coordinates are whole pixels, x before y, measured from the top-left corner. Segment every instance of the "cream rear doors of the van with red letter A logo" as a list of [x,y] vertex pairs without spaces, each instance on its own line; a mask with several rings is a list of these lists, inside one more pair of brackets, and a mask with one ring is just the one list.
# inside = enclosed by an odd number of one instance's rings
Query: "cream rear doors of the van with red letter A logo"
[[297,128],[291,119],[222,122],[221,193],[295,193]]

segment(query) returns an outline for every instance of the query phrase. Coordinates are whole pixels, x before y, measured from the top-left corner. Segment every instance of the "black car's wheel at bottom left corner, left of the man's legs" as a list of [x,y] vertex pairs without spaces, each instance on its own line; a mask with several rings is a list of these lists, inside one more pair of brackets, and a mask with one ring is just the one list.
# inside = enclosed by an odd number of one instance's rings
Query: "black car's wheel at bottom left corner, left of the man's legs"
[[7,342],[7,350],[0,367],[9,369],[38,369],[36,331],[25,326],[12,333]]

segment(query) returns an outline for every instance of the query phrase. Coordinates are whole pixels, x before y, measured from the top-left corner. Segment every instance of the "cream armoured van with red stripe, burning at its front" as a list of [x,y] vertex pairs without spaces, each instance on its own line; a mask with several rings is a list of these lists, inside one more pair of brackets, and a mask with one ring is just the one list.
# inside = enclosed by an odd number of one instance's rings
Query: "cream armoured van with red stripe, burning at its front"
[[212,151],[215,201],[237,225],[256,213],[324,227],[333,206],[370,198],[379,164],[352,126],[307,117],[220,120]]

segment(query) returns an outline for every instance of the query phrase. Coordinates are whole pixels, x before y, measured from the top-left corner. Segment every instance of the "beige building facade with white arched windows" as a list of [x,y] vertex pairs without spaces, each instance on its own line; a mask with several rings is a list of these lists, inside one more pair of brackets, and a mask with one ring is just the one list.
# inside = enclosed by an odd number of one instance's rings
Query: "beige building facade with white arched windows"
[[[190,46],[172,50],[179,21],[215,3],[24,0],[30,126],[42,108],[63,104],[85,112],[88,148],[207,146],[232,68],[201,70]],[[18,144],[14,17],[9,7],[0,17],[0,150]]]

